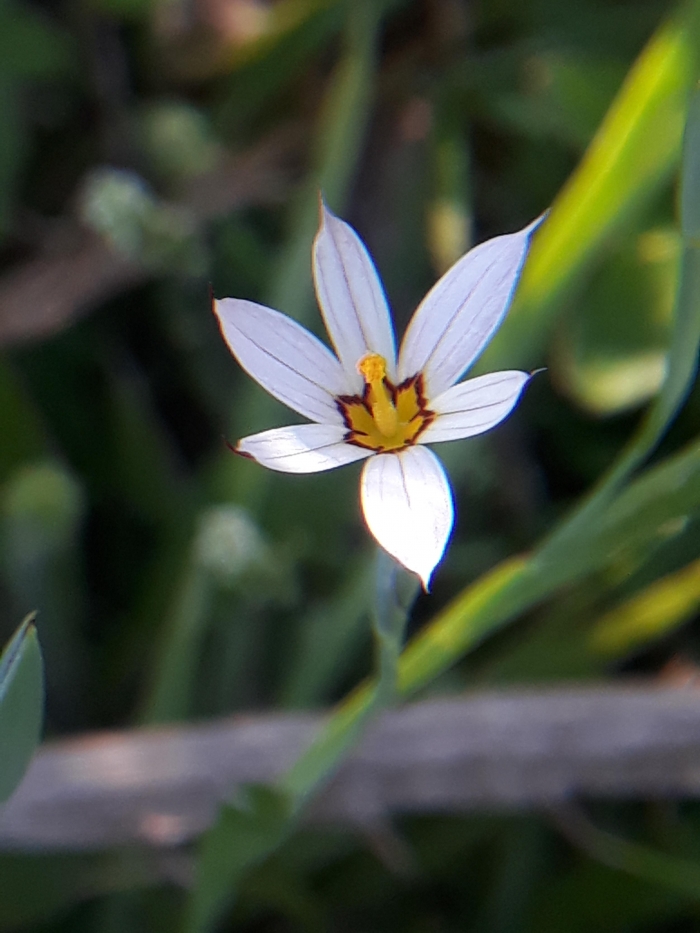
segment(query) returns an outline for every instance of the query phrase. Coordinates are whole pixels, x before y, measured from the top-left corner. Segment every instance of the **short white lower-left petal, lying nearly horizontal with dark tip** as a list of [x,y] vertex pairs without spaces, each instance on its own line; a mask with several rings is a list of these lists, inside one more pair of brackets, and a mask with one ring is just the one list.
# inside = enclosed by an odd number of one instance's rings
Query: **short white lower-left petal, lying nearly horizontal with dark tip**
[[251,434],[238,442],[236,453],[283,473],[320,473],[362,460],[372,451],[343,440],[345,428],[333,424],[297,424]]

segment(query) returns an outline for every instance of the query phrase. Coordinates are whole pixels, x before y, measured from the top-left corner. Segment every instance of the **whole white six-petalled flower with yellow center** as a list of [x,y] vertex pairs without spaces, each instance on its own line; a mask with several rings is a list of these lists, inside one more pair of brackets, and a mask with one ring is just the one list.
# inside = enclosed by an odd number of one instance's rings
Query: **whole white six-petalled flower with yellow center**
[[528,373],[458,382],[508,309],[531,232],[470,250],[418,306],[396,354],[382,283],[362,240],[321,205],[316,294],[337,356],[291,318],[239,298],[214,301],[243,369],[312,424],[244,437],[237,452],[288,473],[366,460],[361,501],[379,544],[428,587],[452,530],[452,492],[425,445],[472,437],[502,421]]

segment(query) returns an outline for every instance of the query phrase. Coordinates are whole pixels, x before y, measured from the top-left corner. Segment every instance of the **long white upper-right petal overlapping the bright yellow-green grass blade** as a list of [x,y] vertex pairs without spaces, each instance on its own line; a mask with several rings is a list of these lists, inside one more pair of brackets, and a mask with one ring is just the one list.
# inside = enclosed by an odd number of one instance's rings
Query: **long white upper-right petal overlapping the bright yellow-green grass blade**
[[479,244],[436,282],[416,309],[399,353],[399,381],[422,372],[428,398],[453,385],[503,320],[538,218]]

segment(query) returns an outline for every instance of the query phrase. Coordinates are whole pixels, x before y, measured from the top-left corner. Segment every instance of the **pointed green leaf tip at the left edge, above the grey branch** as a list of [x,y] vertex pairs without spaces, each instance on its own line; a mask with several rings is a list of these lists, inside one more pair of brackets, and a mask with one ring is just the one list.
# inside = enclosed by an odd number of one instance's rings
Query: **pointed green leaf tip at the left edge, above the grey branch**
[[0,656],[0,802],[19,784],[41,738],[41,650],[28,616]]

